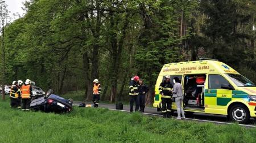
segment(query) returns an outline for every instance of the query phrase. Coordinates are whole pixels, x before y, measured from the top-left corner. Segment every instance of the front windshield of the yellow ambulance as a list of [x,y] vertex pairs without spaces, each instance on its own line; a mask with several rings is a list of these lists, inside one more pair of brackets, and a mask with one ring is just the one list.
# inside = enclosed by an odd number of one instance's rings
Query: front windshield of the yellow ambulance
[[255,84],[242,75],[226,74],[238,87],[255,87]]

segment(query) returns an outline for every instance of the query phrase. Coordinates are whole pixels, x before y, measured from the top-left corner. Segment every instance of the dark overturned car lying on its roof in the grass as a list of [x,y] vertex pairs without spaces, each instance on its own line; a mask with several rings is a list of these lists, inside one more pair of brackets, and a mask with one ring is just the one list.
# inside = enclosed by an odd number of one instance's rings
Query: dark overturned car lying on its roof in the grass
[[49,89],[46,96],[32,99],[30,109],[44,112],[70,112],[72,110],[72,99],[64,99],[52,93],[53,90]]

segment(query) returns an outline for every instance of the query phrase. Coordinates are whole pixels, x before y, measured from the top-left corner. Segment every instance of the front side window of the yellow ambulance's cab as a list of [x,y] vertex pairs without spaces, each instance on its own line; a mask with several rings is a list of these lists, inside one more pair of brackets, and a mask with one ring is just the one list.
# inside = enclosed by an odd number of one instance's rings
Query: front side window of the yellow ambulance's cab
[[229,85],[229,81],[221,75],[209,75],[209,89],[221,89],[221,84]]

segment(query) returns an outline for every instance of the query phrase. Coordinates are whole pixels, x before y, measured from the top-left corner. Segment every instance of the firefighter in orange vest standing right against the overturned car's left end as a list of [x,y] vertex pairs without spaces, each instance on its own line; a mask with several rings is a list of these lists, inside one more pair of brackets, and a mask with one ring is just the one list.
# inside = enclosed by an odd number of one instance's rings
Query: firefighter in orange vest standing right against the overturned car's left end
[[30,102],[32,96],[32,87],[30,86],[31,80],[27,79],[25,84],[22,85],[22,110],[29,111],[30,110]]

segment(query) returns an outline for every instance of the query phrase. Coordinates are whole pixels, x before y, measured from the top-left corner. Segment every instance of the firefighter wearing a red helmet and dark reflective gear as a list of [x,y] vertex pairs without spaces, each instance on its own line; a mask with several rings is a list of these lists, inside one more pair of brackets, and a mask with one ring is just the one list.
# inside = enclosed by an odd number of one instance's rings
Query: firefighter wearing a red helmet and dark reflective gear
[[135,111],[139,110],[139,101],[138,101],[138,82],[139,76],[134,76],[130,81],[130,112],[133,112],[133,104],[135,102]]

